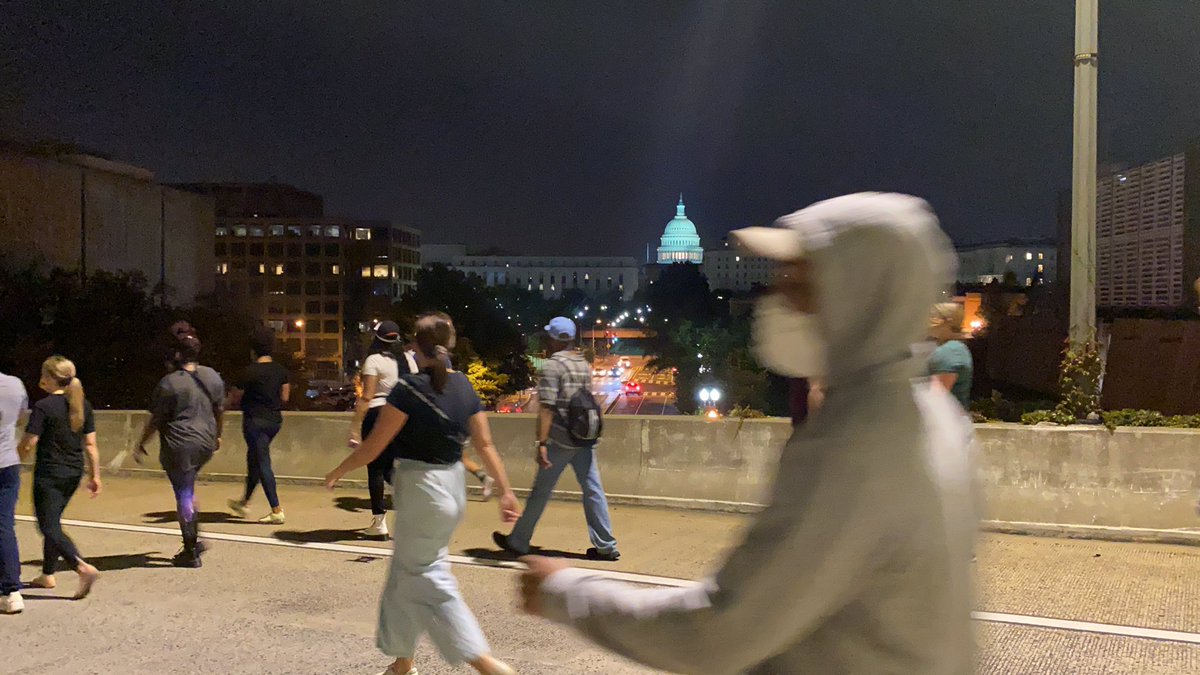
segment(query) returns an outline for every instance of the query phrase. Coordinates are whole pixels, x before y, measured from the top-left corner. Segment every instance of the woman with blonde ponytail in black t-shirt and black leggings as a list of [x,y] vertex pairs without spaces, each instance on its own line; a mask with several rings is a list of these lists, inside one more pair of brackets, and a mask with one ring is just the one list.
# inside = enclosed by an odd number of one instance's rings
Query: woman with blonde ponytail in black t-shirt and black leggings
[[64,357],[50,357],[42,364],[42,390],[49,394],[34,404],[20,442],[20,456],[37,448],[34,464],[34,512],[42,532],[42,575],[30,584],[40,589],[58,585],[54,572],[61,557],[79,574],[76,599],[91,591],[100,578],[95,567],[79,557],[74,542],[62,531],[62,512],[79,489],[88,470],[88,490],[100,494],[100,452],[96,448],[96,420],[91,404],[84,398],[83,383],[76,377],[74,364]]

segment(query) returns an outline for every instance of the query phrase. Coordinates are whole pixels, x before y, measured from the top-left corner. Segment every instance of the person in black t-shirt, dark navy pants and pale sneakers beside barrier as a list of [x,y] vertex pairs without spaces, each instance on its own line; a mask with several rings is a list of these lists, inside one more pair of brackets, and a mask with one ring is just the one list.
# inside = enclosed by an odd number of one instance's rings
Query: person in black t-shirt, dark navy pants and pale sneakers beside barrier
[[264,525],[283,525],[287,518],[280,506],[271,470],[271,441],[283,425],[284,404],[292,394],[288,369],[275,363],[275,333],[260,327],[250,336],[251,356],[254,363],[246,366],[230,387],[228,408],[241,408],[241,434],[246,438],[246,491],[240,500],[229,500],[229,509],[246,518],[246,504],[254,488],[263,485],[263,494],[271,506],[271,513],[259,518]]

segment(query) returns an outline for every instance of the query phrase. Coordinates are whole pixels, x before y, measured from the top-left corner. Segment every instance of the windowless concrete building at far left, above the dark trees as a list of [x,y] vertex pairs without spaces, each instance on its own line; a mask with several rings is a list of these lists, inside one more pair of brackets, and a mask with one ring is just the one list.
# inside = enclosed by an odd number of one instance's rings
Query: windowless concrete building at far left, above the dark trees
[[212,199],[78,150],[0,143],[0,240],[20,267],[137,271],[166,301],[212,291]]

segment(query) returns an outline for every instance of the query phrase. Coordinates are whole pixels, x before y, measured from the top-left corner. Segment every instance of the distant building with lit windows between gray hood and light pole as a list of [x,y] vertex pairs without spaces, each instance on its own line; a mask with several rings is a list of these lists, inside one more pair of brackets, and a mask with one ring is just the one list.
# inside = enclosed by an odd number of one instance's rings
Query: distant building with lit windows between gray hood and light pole
[[956,246],[959,283],[1004,282],[1043,286],[1056,279],[1058,247],[1052,239],[1010,239]]

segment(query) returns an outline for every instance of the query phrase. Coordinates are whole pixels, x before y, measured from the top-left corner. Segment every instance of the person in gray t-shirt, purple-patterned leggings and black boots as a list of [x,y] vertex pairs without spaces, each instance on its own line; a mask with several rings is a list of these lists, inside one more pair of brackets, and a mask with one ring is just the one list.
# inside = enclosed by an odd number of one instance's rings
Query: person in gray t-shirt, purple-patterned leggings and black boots
[[172,490],[184,548],[175,554],[176,567],[199,567],[205,545],[196,521],[196,476],[221,448],[224,383],[211,368],[199,365],[200,340],[186,322],[172,329],[176,345],[167,356],[168,372],[150,396],[150,419],[134,452],[140,462],[145,444],[158,432],[158,461]]

